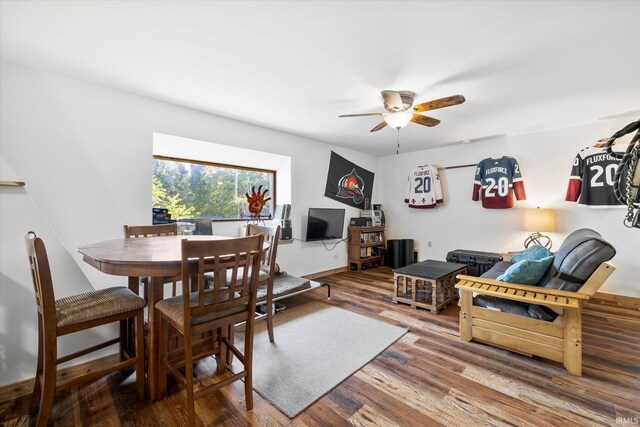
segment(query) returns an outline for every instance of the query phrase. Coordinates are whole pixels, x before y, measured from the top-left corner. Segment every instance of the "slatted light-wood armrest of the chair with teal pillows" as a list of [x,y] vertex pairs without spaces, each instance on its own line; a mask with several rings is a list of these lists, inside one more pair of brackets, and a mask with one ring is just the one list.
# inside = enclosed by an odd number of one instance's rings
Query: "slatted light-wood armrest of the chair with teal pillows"
[[456,288],[458,289],[530,304],[578,307],[581,300],[589,299],[588,295],[577,292],[547,289],[519,283],[500,282],[498,280],[467,276],[464,274],[459,274],[456,277],[460,279],[460,282],[456,284]]

